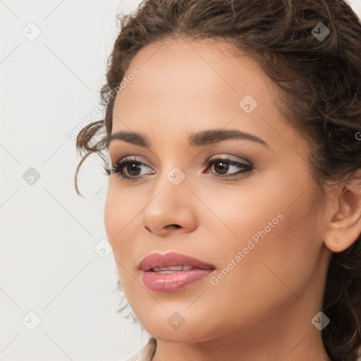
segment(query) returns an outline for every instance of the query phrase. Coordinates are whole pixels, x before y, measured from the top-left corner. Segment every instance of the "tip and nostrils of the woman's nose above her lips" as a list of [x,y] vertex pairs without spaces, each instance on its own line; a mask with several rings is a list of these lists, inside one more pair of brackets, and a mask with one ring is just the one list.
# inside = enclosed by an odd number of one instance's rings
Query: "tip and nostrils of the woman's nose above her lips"
[[148,233],[162,237],[193,231],[197,226],[193,197],[186,184],[169,183],[161,190],[157,188],[142,211],[141,226]]

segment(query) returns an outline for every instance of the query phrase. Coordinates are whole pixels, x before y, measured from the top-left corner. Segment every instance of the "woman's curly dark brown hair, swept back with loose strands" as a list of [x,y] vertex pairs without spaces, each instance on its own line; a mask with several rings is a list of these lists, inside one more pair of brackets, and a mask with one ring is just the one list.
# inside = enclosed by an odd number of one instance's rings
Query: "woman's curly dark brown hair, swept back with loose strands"
[[[76,141],[84,154],[75,171],[78,195],[78,171],[90,154],[102,157],[110,173],[106,151],[114,90],[130,61],[147,44],[179,37],[219,39],[257,61],[278,85],[281,113],[309,142],[310,171],[322,197],[326,181],[347,181],[361,169],[361,23],[344,1],[149,0],[118,20],[121,31],[101,90],[105,118],[85,126]],[[324,39],[312,31],[319,23],[329,30]],[[322,330],[326,352],[335,361],[357,360],[361,235],[348,249],[332,254],[322,311],[331,319]]]

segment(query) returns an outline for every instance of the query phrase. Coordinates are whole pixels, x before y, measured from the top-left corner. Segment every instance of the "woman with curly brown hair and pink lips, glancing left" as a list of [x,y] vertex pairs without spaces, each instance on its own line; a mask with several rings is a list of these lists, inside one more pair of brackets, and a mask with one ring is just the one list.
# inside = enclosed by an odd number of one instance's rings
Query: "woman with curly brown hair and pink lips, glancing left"
[[129,360],[357,360],[360,59],[341,0],[121,17],[77,147],[104,159],[119,286],[152,335]]

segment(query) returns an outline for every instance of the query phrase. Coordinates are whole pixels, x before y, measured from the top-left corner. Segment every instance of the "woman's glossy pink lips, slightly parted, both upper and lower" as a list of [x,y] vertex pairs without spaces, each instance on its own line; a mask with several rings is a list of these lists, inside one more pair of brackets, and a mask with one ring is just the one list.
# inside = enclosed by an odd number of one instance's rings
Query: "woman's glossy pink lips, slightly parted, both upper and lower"
[[[188,271],[173,271],[168,274],[159,274],[152,271],[154,267],[161,268],[182,265],[197,268]],[[174,292],[181,290],[190,286],[193,282],[209,276],[215,269],[213,264],[175,252],[169,252],[166,253],[166,255],[152,253],[152,255],[142,259],[138,268],[142,271],[145,286],[156,292]]]

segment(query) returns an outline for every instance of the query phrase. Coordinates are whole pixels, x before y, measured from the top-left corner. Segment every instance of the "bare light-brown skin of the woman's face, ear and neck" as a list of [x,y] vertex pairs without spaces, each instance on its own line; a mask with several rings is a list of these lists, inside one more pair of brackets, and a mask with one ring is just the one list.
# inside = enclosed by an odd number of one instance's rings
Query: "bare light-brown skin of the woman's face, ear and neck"
[[[307,142],[245,54],[215,41],[168,39],[142,48],[126,76],[134,68],[139,75],[116,96],[112,133],[141,133],[151,146],[111,142],[113,165],[134,156],[146,166],[132,182],[111,174],[104,222],[130,307],[157,338],[153,360],[331,360],[311,319],[322,310],[331,251],[361,232],[361,202],[353,212],[342,184],[330,188],[324,205],[314,202]],[[258,102],[250,114],[238,106],[245,94]],[[190,133],[214,128],[250,133],[268,147],[239,139],[188,145]],[[218,154],[254,169],[221,178],[216,164],[207,169]],[[174,166],[185,175],[179,185],[166,178]],[[240,170],[230,166],[226,174]],[[218,273],[277,214],[279,224],[216,286],[204,279],[173,293],[145,287],[137,269],[145,256],[179,252]],[[173,312],[184,319],[176,330],[167,322]]]

